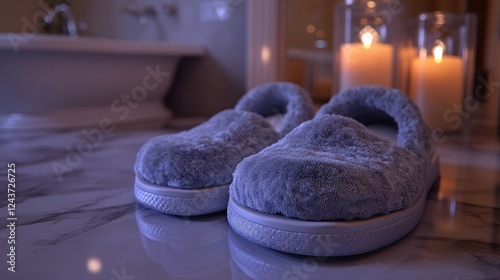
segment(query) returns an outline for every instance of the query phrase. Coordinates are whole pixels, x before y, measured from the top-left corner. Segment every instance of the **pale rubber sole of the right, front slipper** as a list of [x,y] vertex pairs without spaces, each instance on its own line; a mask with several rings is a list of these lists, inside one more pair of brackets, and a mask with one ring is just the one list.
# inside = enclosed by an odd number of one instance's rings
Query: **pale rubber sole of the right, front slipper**
[[304,221],[262,213],[229,200],[228,222],[242,237],[271,249],[310,256],[348,256],[395,242],[420,222],[429,190],[439,177],[434,155],[426,189],[407,209],[355,221]]

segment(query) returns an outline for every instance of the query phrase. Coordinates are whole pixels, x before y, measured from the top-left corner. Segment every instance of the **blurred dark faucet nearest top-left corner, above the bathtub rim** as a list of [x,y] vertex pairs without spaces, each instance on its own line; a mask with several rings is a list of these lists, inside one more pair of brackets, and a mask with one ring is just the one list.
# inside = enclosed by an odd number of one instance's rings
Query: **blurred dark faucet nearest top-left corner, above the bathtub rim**
[[[55,23],[56,20],[59,20],[59,22]],[[75,17],[67,4],[55,5],[45,15],[43,21],[47,33],[67,34],[72,38],[78,36]]]

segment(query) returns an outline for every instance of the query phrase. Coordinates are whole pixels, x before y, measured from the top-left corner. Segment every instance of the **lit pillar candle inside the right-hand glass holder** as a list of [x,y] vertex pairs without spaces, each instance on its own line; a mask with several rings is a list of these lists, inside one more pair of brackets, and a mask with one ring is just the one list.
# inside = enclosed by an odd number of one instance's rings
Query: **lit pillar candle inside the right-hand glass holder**
[[425,50],[411,62],[410,96],[432,128],[452,130],[455,122],[447,121],[445,112],[462,104],[463,62],[458,56],[443,55],[446,48],[437,40],[427,57]]

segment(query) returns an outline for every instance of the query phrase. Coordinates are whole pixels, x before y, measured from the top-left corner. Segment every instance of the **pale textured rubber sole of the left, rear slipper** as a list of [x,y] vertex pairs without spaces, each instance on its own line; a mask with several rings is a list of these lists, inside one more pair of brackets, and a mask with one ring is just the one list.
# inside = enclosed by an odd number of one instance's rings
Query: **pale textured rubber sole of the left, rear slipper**
[[153,185],[136,176],[134,195],[137,202],[156,211],[197,216],[226,210],[229,185],[187,190]]

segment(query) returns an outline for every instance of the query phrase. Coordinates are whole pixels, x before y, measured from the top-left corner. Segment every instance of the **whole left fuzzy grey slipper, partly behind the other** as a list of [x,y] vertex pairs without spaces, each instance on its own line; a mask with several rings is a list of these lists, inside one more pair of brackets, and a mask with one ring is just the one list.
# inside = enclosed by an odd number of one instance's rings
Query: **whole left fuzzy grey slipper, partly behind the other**
[[[259,86],[235,109],[188,131],[150,139],[135,163],[135,197],[174,215],[203,215],[227,208],[236,165],[275,143],[314,115],[307,92],[290,83]],[[279,121],[271,122],[273,116]]]

